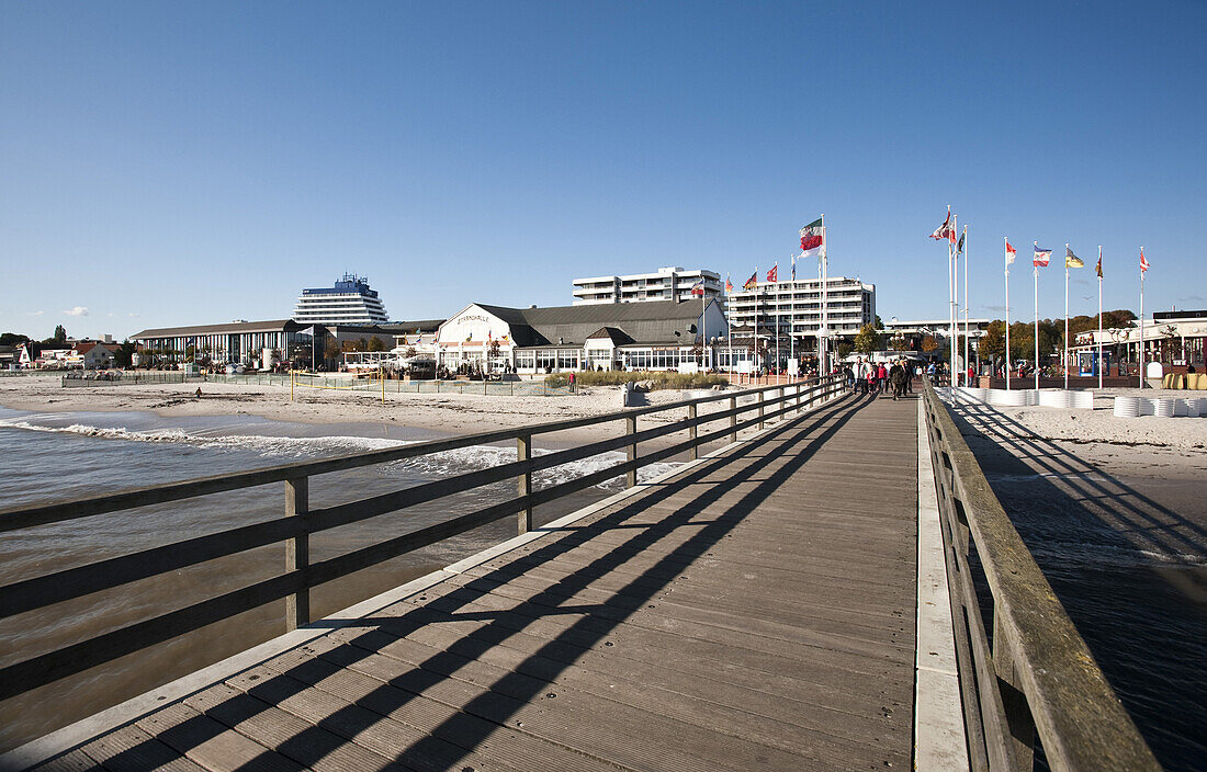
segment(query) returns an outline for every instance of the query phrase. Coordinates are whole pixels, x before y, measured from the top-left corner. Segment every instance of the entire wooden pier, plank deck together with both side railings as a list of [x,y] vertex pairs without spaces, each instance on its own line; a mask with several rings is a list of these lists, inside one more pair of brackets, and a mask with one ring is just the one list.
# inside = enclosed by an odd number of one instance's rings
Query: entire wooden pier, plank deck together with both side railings
[[[255,538],[288,537],[288,573],[261,591],[287,601],[288,632],[35,741],[0,758],[0,767],[1016,770],[1031,767],[1042,742],[1054,770],[1110,768],[1095,766],[1102,760],[1156,768],[1067,618],[1040,608],[1046,584],[1013,548],[1001,505],[985,496],[984,475],[929,386],[925,410],[917,398],[846,396],[833,380],[753,394],[745,407],[729,396],[672,405],[687,408],[687,420],[645,432],[642,410],[626,411],[625,434],[596,448],[628,449],[614,469],[629,472],[632,490],[535,530],[531,507],[556,491],[531,490],[531,472],[553,463],[530,455],[531,439],[558,425],[521,431],[518,460],[479,473],[488,481],[520,475],[519,496],[453,521],[465,530],[519,513],[519,537],[316,622],[307,619],[307,587],[454,526],[398,537],[348,566],[310,565],[304,534],[315,522],[372,516],[418,493],[309,511],[305,475],[431,449],[174,484],[170,496],[185,498],[286,481],[288,522],[311,525],[274,525]],[[698,413],[723,400],[728,410]],[[698,433],[716,421],[728,426]],[[639,440],[687,431],[686,445],[645,458],[683,448],[696,457],[701,443],[742,429],[757,433],[635,485]],[[430,490],[483,484],[468,476]],[[148,496],[132,491],[84,509]],[[47,505],[17,517],[46,522],[65,513]],[[238,546],[249,542],[240,536]],[[188,560],[204,556],[188,544]],[[970,595],[972,544],[989,574],[992,653]],[[1009,580],[998,565],[1008,565]],[[152,571],[121,567],[123,580]],[[58,597],[41,586],[51,579],[25,584],[45,596],[40,603]],[[1031,610],[1021,597],[1044,619],[1020,614]],[[232,593],[208,603],[235,602],[247,601]],[[179,622],[168,615],[142,625],[165,636]],[[135,645],[122,636],[76,650],[100,657],[113,641]],[[18,694],[77,672],[70,653],[10,666],[0,674],[23,682],[0,689]],[[947,697],[923,694],[933,684]]]

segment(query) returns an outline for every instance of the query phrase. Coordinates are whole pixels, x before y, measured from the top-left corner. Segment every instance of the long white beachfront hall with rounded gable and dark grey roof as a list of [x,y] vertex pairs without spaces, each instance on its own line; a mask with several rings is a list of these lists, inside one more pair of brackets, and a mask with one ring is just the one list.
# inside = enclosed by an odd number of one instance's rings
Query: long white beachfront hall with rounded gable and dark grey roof
[[514,309],[473,303],[432,346],[450,373],[678,370],[709,367],[704,341],[724,338],[715,298]]

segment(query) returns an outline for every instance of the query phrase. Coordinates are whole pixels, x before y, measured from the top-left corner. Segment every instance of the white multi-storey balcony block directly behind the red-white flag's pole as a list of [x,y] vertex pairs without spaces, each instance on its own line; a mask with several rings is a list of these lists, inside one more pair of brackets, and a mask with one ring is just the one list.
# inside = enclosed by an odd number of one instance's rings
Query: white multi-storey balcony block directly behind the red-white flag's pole
[[[817,350],[817,332],[822,326],[822,280],[760,281],[752,290],[731,292],[725,317],[734,335],[739,329],[756,329],[780,337],[797,352]],[[829,338],[852,339],[859,328],[876,318],[876,286],[830,276],[826,292]]]

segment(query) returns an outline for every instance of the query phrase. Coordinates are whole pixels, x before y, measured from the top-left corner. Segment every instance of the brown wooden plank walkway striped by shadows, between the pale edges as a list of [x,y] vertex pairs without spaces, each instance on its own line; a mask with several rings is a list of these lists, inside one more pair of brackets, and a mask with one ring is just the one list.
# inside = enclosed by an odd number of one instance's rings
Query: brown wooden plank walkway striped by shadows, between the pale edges
[[39,768],[909,768],[916,416],[786,422]]

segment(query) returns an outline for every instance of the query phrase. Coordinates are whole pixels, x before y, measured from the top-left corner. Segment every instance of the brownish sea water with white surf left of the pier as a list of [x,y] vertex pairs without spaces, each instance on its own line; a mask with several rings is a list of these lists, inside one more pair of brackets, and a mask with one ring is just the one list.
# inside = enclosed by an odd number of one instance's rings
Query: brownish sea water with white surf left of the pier
[[[390,423],[305,425],[238,415],[164,419],[150,413],[24,413],[0,408],[0,507],[70,501],[198,476],[244,472],[438,439]],[[536,454],[556,450],[554,440]],[[515,460],[514,444],[476,445],[310,478],[314,508],[356,501]],[[533,489],[624,460],[607,452],[533,475]],[[672,469],[655,463],[640,479]],[[552,520],[623,489],[623,478],[538,508]],[[321,561],[470,513],[515,493],[507,480],[368,521],[314,534]],[[0,533],[0,585],[93,563],[284,514],[280,482],[168,504]],[[484,526],[321,585],[321,618],[497,544],[514,517]],[[268,579],[284,569],[284,545],[233,555],[162,577],[0,620],[0,666]],[[0,706],[0,751],[45,735],[284,632],[284,601],[239,614],[43,686]]]

